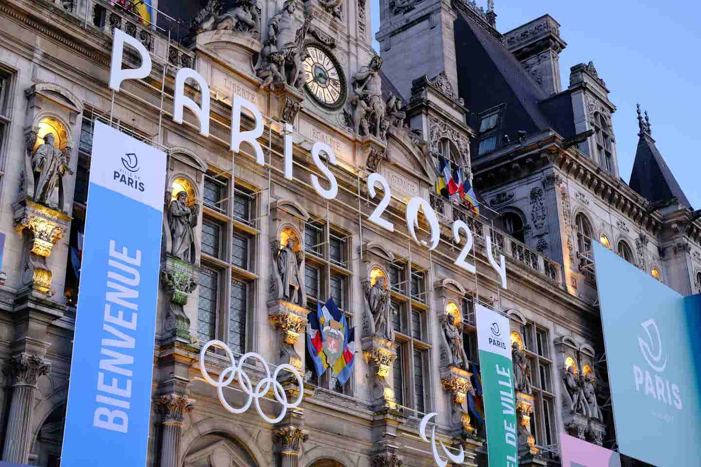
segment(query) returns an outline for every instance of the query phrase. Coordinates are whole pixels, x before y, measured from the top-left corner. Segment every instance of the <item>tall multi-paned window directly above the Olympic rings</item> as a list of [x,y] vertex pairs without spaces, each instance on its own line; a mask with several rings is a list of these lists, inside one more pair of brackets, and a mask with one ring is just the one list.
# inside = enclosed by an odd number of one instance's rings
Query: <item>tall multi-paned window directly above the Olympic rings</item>
[[256,190],[220,173],[208,172],[203,183],[198,338],[223,340],[244,354],[252,345],[247,330],[257,277],[251,260],[259,232]]

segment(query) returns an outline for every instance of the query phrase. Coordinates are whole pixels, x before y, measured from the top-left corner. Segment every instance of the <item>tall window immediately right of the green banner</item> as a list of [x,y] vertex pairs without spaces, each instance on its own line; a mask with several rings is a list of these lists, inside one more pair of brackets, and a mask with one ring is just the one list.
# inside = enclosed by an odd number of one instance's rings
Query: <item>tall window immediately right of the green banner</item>
[[552,377],[553,363],[550,359],[550,333],[547,329],[540,328],[531,322],[517,323],[515,327],[522,337],[523,348],[531,370],[534,405],[531,432],[536,437],[537,445],[551,446],[557,442],[555,438],[557,426],[554,418],[555,391]]

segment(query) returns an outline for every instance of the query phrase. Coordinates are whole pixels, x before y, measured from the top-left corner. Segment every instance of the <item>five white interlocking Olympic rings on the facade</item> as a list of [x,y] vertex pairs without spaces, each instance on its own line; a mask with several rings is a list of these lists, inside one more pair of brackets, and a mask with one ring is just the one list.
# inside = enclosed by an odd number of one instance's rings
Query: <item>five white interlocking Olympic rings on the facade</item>
[[[219,374],[219,379],[217,381],[210,377],[210,375],[207,373],[207,368],[205,368],[205,352],[210,347],[217,347],[219,349],[224,350],[226,352],[226,356],[228,356],[229,360],[231,361],[231,366],[228,368],[224,368],[224,370]],[[261,379],[258,382],[258,384],[256,384],[255,391],[253,391],[253,386],[251,384],[250,377],[248,377],[246,372],[243,370],[243,362],[245,362],[247,358],[254,358],[255,360],[262,363],[263,368],[265,368],[266,372],[266,377]],[[294,375],[294,377],[297,378],[297,382],[299,383],[299,397],[297,397],[297,400],[292,404],[287,402],[287,394],[285,393],[285,389],[283,388],[283,385],[280,384],[280,382],[278,382],[278,374],[280,373],[280,370],[287,370],[291,372],[292,375]],[[287,409],[292,409],[301,404],[302,397],[304,396],[304,381],[302,380],[301,375],[299,375],[299,371],[297,371],[297,368],[294,368],[294,366],[288,363],[283,363],[283,365],[278,365],[278,367],[275,368],[275,371],[271,376],[270,367],[268,366],[268,363],[262,356],[255,352],[248,352],[247,354],[243,354],[243,356],[241,356],[237,364],[236,358],[234,358],[233,356],[233,351],[231,351],[231,349],[229,349],[229,346],[224,344],[224,342],[222,342],[221,340],[210,340],[210,342],[207,342],[202,347],[202,350],[200,351],[200,371],[202,372],[202,376],[205,378],[205,381],[217,388],[217,393],[219,394],[219,401],[222,403],[222,405],[224,405],[224,408],[226,410],[228,410],[232,414],[243,414],[243,412],[249,409],[252,401],[255,400],[256,410],[258,410],[258,414],[265,421],[271,424],[278,423],[278,421],[282,420],[285,417],[285,414],[287,413]],[[229,403],[226,402],[226,398],[224,398],[224,387],[229,386],[229,384],[233,381],[235,377],[238,377],[238,384],[239,386],[241,386],[241,391],[245,392],[248,395],[248,400],[246,401],[246,403],[243,405],[243,407],[239,407],[238,409],[236,407],[231,407],[231,405],[229,405]],[[283,405],[283,412],[281,412],[280,415],[278,415],[278,417],[274,419],[264,414],[260,406],[260,398],[268,393],[271,384],[273,385],[273,394],[275,394],[275,400],[277,400],[278,403]]]

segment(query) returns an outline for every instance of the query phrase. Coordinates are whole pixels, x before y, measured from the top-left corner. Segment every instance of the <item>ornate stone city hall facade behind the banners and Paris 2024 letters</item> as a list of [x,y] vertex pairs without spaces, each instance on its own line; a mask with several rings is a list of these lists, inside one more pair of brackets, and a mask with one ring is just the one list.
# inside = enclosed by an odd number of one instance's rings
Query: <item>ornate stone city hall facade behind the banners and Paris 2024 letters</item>
[[[418,437],[429,412],[440,439],[465,449],[463,465],[484,466],[477,303],[508,314],[515,355],[531,372],[519,406],[522,463],[559,465],[563,430],[615,445],[591,242],[680,293],[701,291],[700,214],[648,116],[639,113],[626,183],[608,88],[590,62],[573,67],[562,90],[566,43],[547,15],[501,34],[492,2],[484,11],[471,1],[383,0],[379,59],[365,0],[193,3],[154,1],[154,24],[128,0],[0,4],[1,459],[60,465],[72,335],[89,312],[77,298],[90,259],[81,249],[97,120],[168,154],[149,466],[429,466]],[[150,51],[154,69],[113,94],[116,29]],[[183,67],[210,85],[209,138],[190,113],[172,120]],[[197,102],[200,91],[187,83]],[[229,151],[232,96],[266,116],[262,166],[246,145]],[[286,132],[292,179],[283,176]],[[311,183],[316,141],[336,156],[336,200]],[[479,216],[435,193],[439,156],[472,182]],[[383,218],[394,233],[368,221],[381,195],[369,193],[373,173],[393,190]],[[407,231],[415,196],[439,220],[433,251]],[[454,264],[454,220],[475,235],[476,274]],[[423,218],[418,235],[430,236]],[[506,289],[487,237],[506,258]],[[382,329],[373,293],[386,300]],[[306,349],[306,313],[329,297],[358,343],[343,386],[332,372],[315,375]],[[276,424],[255,410],[227,412],[200,371],[212,339],[299,368],[303,403]],[[205,354],[211,374],[228,365]],[[264,377],[253,362],[247,372]],[[285,391],[299,396],[294,384]],[[227,400],[240,407],[246,397],[230,391]]]

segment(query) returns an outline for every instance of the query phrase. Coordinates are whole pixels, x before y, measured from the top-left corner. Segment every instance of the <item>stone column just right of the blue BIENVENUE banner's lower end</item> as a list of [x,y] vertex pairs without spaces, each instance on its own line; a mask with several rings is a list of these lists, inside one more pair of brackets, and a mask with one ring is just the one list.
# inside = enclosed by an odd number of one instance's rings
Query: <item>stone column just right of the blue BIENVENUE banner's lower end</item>
[[163,414],[161,438],[161,467],[178,467],[183,417],[192,410],[193,401],[178,394],[168,394],[156,400],[156,411]]

